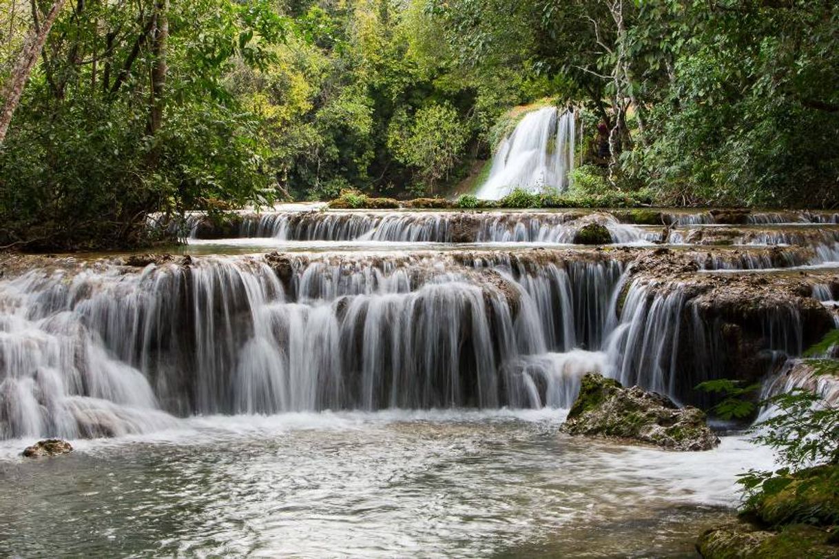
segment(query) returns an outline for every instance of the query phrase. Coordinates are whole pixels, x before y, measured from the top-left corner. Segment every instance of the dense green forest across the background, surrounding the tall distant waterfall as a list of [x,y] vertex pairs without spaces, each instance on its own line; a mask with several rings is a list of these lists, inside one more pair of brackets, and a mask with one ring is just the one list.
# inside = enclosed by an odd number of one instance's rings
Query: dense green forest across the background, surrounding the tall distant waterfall
[[347,189],[456,196],[533,103],[580,110],[577,189],[839,202],[832,0],[2,0],[0,86],[3,246],[126,246],[152,212]]

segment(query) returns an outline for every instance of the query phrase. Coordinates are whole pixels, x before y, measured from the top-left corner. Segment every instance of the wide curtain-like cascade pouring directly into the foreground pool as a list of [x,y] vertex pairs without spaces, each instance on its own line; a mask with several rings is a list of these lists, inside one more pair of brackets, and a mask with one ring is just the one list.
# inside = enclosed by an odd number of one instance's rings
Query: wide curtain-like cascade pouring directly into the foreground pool
[[[0,281],[0,436],[119,435],[193,414],[566,407],[591,370],[683,400],[720,374],[706,357],[718,328],[679,285],[625,285],[620,259],[532,252],[208,257]],[[769,349],[800,353],[800,327],[769,317]]]

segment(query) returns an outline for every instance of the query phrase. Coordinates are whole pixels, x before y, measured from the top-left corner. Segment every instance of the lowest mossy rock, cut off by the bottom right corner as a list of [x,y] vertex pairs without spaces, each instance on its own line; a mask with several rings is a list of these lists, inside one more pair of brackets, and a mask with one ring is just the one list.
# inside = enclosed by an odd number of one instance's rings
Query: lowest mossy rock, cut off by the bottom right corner
[[788,525],[775,532],[732,522],[706,530],[696,541],[696,551],[706,559],[839,557],[839,546],[830,543],[834,535],[810,525]]

